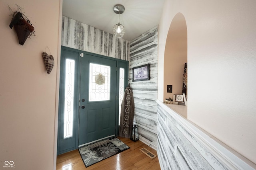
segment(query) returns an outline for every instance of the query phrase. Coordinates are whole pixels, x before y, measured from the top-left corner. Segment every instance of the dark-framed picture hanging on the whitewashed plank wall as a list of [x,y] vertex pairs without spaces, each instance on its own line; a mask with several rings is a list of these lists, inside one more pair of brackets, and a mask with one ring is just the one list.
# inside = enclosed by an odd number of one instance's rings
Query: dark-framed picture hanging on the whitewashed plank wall
[[149,64],[137,66],[132,68],[132,81],[144,81],[149,80]]

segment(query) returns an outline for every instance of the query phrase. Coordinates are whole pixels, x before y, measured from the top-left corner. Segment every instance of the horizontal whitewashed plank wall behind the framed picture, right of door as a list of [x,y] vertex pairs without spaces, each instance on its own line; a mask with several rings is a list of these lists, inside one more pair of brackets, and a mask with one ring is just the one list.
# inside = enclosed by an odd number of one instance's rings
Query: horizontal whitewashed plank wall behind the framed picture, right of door
[[[132,82],[132,68],[150,64],[150,80]],[[130,41],[129,83],[134,95],[134,124],[140,141],[157,148],[158,26]]]

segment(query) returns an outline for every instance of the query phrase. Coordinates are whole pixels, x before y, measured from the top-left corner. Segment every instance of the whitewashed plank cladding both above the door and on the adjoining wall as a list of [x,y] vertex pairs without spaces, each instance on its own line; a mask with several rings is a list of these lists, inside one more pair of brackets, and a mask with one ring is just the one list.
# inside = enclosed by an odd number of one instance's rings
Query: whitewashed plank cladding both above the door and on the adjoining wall
[[[85,23],[62,16],[61,45],[130,61],[129,83],[134,94],[134,122],[140,140],[157,148],[158,26],[127,41]],[[132,82],[132,68],[150,64],[150,80]]]

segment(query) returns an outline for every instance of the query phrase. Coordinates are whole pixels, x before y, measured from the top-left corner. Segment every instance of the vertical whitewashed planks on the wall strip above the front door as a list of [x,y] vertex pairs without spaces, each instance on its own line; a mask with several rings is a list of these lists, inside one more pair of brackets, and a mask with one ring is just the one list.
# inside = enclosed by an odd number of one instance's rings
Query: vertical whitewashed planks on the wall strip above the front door
[[62,16],[61,45],[129,61],[130,41]]

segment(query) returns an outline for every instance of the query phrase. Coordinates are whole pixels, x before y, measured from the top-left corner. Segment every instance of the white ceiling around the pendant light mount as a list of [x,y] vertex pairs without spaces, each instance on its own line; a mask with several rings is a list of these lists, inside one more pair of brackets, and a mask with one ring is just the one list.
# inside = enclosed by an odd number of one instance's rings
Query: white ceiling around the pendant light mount
[[113,33],[118,14],[113,8],[122,4],[120,23],[125,27],[122,38],[131,41],[159,24],[164,0],[63,0],[62,15],[92,27]]

